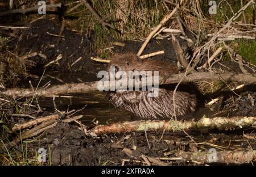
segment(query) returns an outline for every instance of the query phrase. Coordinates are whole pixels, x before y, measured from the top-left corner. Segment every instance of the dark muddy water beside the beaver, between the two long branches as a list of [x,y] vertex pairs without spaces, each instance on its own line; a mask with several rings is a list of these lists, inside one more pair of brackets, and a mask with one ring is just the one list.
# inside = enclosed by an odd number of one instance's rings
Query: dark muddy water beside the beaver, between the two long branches
[[[83,115],[82,119],[80,119],[83,123],[98,120],[99,123],[106,124],[133,119],[131,113],[115,109],[112,104],[109,103],[109,99],[106,97],[105,92],[94,91],[85,94],[63,96],[68,96],[69,98],[55,97],[56,108],[60,111],[66,111],[67,109],[81,109],[77,114]],[[39,104],[49,112],[55,111],[52,97],[40,98]]]

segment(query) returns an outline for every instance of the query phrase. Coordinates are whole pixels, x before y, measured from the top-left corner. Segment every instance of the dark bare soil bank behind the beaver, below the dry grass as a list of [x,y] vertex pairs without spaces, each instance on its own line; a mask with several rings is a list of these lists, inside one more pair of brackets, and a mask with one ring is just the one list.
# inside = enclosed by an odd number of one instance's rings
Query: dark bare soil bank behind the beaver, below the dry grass
[[[66,82],[91,82],[97,80],[98,71],[105,70],[106,64],[97,63],[90,60],[91,56],[96,56],[93,51],[94,33],[90,33],[90,37],[86,37],[85,33],[78,33],[68,29],[64,29],[63,38],[55,37],[60,31],[60,26],[53,20],[42,19],[37,20],[32,24],[28,24],[30,28],[27,30],[20,30],[19,37],[15,37],[9,42],[9,50],[19,56],[24,56],[27,53],[38,52],[47,56],[47,59],[36,56],[30,58],[36,65],[32,66],[29,70],[30,74],[38,75],[40,77],[43,72],[43,66],[50,61],[53,61],[61,54],[63,58],[57,62],[57,64],[49,65],[46,68],[45,74],[53,75],[53,77],[59,78],[53,79],[44,77],[47,81],[51,81],[53,84],[66,83]],[[58,41],[59,40],[59,41]],[[181,47],[187,53],[191,53],[187,43],[184,40],[178,39]],[[110,39],[110,42],[112,40]],[[114,46],[113,53],[122,52],[134,52],[137,53],[141,47],[143,41],[121,41],[125,43],[125,47]],[[164,54],[152,57],[154,60],[169,60],[176,65],[177,57],[173,50],[172,43],[168,39],[164,40],[152,40],[142,54],[148,54],[164,50]],[[71,66],[79,57],[82,59],[75,65]],[[108,59],[108,58],[106,58]],[[80,80],[78,80],[79,78]],[[38,82],[38,79],[32,79],[34,83]],[[28,87],[26,78],[23,79],[23,87]]]

